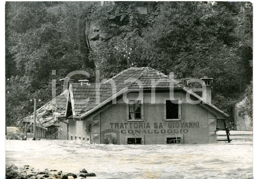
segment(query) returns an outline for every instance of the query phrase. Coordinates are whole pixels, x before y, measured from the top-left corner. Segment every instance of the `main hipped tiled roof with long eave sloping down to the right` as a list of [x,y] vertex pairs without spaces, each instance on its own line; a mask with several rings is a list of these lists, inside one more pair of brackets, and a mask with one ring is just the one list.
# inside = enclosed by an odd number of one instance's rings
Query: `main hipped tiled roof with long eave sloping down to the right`
[[[108,102],[112,100],[113,95],[122,95],[128,89],[138,88],[138,84],[142,85],[143,88],[152,88],[153,86],[156,88],[179,88],[183,89],[187,92],[187,89],[183,87],[182,80],[178,79],[169,79],[169,77],[153,68],[150,67],[142,67],[142,68],[135,68],[131,67],[127,70],[122,71],[118,75],[114,76],[113,78],[107,80],[104,84],[111,84],[111,82],[115,82],[116,91],[113,93],[113,88],[110,88],[100,95],[100,103],[97,104],[96,101],[90,102],[90,104],[85,105],[84,109],[81,110],[80,113],[76,114],[73,117],[83,118],[87,115],[91,114],[92,112],[98,110],[102,106],[106,105]],[[152,85],[153,84],[153,85]],[[196,95],[195,93],[191,93],[198,99],[201,99],[205,102],[204,99]],[[214,105],[205,102],[204,104],[212,107],[214,110],[217,110],[223,116],[228,117],[226,113],[215,107]],[[82,106],[81,106],[82,107]],[[81,108],[79,108],[81,109]]]

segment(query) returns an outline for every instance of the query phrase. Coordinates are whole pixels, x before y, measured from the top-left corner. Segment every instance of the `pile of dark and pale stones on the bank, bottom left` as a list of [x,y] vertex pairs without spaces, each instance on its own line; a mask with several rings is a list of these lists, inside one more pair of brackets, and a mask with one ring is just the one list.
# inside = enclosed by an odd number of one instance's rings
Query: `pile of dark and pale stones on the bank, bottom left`
[[20,168],[13,164],[5,165],[6,179],[84,179],[86,177],[96,177],[96,175],[95,173],[88,173],[85,169],[73,174],[50,169],[36,170],[29,165]]

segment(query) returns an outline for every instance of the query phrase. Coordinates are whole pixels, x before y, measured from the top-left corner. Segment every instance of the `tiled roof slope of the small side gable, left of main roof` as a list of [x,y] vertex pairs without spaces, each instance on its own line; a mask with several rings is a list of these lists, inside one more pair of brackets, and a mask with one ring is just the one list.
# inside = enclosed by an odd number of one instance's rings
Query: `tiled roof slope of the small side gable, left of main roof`
[[81,112],[85,106],[95,101],[97,92],[99,95],[102,95],[111,87],[109,84],[101,84],[96,92],[96,84],[82,84],[83,85],[81,85],[81,83],[70,83],[73,94],[74,110],[76,114]]

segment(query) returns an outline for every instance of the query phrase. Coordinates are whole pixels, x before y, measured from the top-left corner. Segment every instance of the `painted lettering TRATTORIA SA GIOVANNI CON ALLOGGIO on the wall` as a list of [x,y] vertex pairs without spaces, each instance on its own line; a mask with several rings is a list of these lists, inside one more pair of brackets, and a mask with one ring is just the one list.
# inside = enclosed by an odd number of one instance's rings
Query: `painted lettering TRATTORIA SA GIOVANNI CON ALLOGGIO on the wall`
[[188,129],[199,128],[199,122],[116,122],[109,123],[111,129],[121,130],[121,134],[182,134]]

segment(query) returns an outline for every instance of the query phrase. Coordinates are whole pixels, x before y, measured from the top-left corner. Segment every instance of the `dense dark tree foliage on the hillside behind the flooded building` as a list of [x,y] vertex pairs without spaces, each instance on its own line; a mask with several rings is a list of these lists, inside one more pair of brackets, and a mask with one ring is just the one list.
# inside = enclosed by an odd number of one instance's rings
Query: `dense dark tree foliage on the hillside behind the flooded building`
[[[136,5],[65,2],[59,4],[65,10],[57,8],[53,13],[49,2],[7,2],[8,124],[32,112],[29,98],[50,100],[52,69],[57,70],[55,79],[87,70],[93,81],[95,69],[101,78],[109,78],[126,69],[127,61],[165,74],[173,71],[177,78],[213,77],[213,104],[230,114],[231,120],[234,104],[252,79],[252,35],[245,33],[238,8],[251,4],[158,2],[148,14],[140,14]],[[93,27],[114,37],[99,40],[92,48]],[[17,98],[19,93],[22,97]]]

